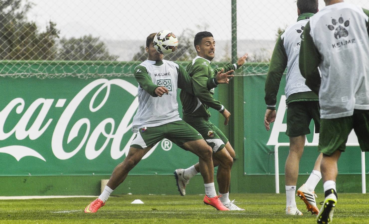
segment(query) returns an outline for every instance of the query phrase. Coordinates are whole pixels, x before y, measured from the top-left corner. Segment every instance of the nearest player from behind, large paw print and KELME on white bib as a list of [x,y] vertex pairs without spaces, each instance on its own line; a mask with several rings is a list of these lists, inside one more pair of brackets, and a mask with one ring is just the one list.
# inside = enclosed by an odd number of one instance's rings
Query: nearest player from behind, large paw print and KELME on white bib
[[325,199],[317,223],[332,222],[337,161],[352,129],[361,150],[369,151],[369,10],[343,0],[324,1],[306,24],[299,63],[321,107],[318,150]]

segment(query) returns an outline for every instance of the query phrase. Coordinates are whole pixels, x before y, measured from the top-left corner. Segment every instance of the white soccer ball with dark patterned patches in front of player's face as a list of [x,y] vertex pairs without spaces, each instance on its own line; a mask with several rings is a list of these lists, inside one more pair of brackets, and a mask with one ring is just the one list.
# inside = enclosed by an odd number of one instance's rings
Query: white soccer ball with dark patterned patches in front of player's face
[[154,48],[157,52],[166,55],[177,49],[178,39],[169,30],[162,30],[154,37]]

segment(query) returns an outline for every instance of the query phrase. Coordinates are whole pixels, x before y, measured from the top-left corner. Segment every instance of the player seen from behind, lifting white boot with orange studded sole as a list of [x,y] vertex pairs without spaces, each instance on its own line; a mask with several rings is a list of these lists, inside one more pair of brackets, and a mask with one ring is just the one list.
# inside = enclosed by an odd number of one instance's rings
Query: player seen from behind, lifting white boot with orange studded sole
[[[318,95],[305,85],[305,78],[301,76],[299,69],[299,53],[301,34],[310,17],[318,11],[318,0],[297,1],[297,22],[286,28],[278,37],[273,50],[268,75],[265,81],[265,112],[264,125],[270,129],[270,123],[276,118],[276,101],[280,80],[287,67],[286,94],[287,104],[287,130],[290,138],[290,151],[285,166],[286,181],[286,214],[302,215],[297,209],[295,194],[296,183],[299,176],[299,162],[304,151],[306,134],[310,134],[309,125],[314,120],[315,133],[319,133],[320,113]],[[308,149],[309,150],[309,149]],[[311,150],[311,149],[310,149]],[[297,196],[306,204],[306,208],[312,214],[318,214],[319,210],[315,202],[315,187],[321,179],[320,154],[315,161],[313,171],[307,181],[297,189]]]

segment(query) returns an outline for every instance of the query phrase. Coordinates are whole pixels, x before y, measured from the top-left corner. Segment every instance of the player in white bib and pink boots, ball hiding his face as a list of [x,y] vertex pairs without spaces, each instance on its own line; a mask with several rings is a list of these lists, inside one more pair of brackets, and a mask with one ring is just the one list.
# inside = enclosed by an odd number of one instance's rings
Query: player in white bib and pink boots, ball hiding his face
[[[139,87],[138,110],[133,118],[132,131],[137,134],[132,140],[127,157],[114,168],[103,193],[86,207],[85,213],[95,213],[104,206],[111,192],[125,180],[128,172],[163,138],[199,156],[206,194],[204,202],[218,210],[229,210],[223,206],[218,196],[214,195],[211,147],[199,132],[179,117],[177,88],[193,93],[191,78],[179,64],[163,60],[163,55],[154,48],[155,35],[156,33],[153,33],[146,38],[148,59],[139,64],[134,72]],[[229,75],[232,71],[217,73],[217,77],[208,79],[207,84],[211,87],[215,85],[214,81],[225,83],[233,76]],[[165,74],[165,77],[158,74]],[[166,87],[163,86],[164,80]]]

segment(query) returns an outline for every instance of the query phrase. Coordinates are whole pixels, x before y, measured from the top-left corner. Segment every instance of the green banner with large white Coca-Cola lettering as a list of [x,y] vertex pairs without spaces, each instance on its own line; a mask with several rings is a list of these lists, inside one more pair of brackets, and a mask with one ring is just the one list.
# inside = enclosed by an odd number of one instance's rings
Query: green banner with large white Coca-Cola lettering
[[[1,77],[0,176],[110,175],[135,135],[137,86],[134,77]],[[197,161],[163,139],[130,174],[173,174]]]

